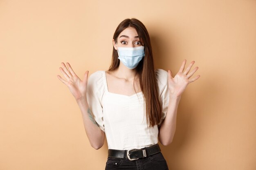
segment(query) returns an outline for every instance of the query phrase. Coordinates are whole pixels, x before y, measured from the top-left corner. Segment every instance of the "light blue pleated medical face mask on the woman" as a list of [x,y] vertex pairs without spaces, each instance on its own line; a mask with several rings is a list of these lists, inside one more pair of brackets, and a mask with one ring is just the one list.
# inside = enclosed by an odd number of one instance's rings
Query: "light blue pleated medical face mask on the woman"
[[[117,44],[117,42],[116,42]],[[139,47],[118,47],[118,59],[129,69],[137,67],[145,56],[144,46]]]

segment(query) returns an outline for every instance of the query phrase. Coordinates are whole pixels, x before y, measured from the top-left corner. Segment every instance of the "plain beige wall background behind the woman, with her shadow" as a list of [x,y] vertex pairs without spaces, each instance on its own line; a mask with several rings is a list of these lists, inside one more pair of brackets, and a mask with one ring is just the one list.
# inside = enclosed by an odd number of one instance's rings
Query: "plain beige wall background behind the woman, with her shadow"
[[[74,97],[57,75],[106,70],[112,36],[126,18],[143,22],[155,68],[175,75],[184,59],[201,77],[189,84],[170,170],[256,169],[255,0],[0,0],[0,170],[103,170]],[[188,66],[188,63],[186,64]]]

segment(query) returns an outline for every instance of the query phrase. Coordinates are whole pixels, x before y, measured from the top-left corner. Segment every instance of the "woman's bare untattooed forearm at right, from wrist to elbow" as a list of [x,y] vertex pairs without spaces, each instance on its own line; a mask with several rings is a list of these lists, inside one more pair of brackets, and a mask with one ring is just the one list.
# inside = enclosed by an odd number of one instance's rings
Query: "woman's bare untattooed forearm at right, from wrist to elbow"
[[173,97],[170,95],[169,105],[166,113],[166,117],[162,122],[159,129],[159,141],[164,146],[171,144],[176,130],[176,117],[177,108],[180,102],[180,97]]

